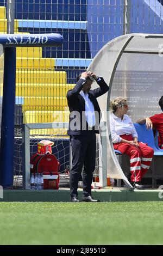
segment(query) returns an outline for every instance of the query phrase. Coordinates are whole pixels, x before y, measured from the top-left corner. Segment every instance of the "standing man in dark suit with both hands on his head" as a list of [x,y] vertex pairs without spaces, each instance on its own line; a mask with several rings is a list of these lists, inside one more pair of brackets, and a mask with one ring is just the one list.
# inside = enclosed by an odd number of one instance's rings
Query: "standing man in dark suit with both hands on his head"
[[[91,90],[92,82],[96,81],[99,88]],[[101,110],[97,97],[108,92],[109,87],[102,77],[92,71],[86,71],[77,78],[77,84],[67,92],[70,109],[68,135],[72,147],[72,169],[70,170],[71,202],[78,199],[78,181],[82,173],[83,202],[99,202],[91,195],[91,184],[96,160],[96,133],[101,120]],[[82,168],[84,166],[83,172]]]

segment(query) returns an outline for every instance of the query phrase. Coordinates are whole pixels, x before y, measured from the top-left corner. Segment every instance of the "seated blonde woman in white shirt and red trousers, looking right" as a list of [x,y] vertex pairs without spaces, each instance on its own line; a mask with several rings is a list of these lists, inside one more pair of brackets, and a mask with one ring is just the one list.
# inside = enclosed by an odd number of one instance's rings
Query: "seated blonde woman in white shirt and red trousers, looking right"
[[137,141],[137,132],[131,118],[126,114],[126,98],[117,97],[110,103],[110,129],[114,149],[130,157],[131,185],[140,190],[142,177],[152,162],[154,150],[147,144]]

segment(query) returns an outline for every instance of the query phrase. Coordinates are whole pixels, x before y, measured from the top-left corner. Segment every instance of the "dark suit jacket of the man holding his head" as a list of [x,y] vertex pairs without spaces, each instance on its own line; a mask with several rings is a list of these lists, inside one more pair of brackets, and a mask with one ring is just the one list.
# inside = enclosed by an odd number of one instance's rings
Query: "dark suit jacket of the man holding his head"
[[[99,88],[96,88],[94,90],[90,90],[89,99],[93,102],[94,108],[95,108],[95,118],[96,118],[96,125],[95,125],[95,132],[99,133],[98,125],[101,120],[101,110],[99,108],[97,97],[103,95],[104,93],[108,92],[109,86],[105,83],[102,77],[101,81],[97,82],[99,85]],[[68,90],[67,92],[67,102],[68,107],[70,109],[70,121],[68,126],[68,135],[81,135],[84,131],[82,127],[87,130],[87,121],[85,117],[85,100],[82,95],[80,95],[80,91],[83,88],[83,85],[86,83],[85,80],[82,78],[79,79],[76,86],[72,90]],[[84,126],[83,126],[84,124]],[[86,125],[86,127],[85,127]],[[74,126],[75,129],[74,129]]]

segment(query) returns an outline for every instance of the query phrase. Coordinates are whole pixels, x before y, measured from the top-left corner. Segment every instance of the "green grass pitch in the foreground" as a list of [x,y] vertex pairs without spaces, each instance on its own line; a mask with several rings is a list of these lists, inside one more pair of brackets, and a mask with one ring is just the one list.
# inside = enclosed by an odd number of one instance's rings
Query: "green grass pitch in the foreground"
[[1,245],[162,245],[162,202],[0,203]]

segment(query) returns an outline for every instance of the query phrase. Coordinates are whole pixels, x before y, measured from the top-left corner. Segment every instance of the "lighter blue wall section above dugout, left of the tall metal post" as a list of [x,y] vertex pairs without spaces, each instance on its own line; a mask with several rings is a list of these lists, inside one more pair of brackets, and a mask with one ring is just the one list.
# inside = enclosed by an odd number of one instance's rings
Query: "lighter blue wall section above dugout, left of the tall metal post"
[[123,33],[123,8],[119,0],[87,0],[87,35],[91,58],[111,39]]

